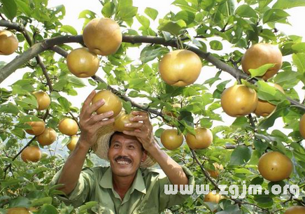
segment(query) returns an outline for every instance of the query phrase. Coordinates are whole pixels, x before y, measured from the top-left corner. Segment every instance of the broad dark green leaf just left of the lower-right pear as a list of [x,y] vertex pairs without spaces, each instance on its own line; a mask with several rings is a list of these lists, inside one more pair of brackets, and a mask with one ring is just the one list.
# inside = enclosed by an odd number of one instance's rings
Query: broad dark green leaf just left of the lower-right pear
[[251,158],[251,151],[246,145],[239,145],[234,149],[231,155],[231,165],[246,164]]

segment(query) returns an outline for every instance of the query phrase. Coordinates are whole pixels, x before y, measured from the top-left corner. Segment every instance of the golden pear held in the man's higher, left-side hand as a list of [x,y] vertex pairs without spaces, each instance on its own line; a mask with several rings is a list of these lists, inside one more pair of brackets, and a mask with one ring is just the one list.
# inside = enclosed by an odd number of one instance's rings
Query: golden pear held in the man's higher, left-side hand
[[[120,98],[113,94],[113,92],[108,90],[101,90],[97,92],[97,94],[94,95],[92,99],[92,104],[95,104],[97,101],[104,99],[105,104],[99,109],[97,109],[97,113],[106,113],[110,110],[113,110],[112,117],[115,117],[118,115],[122,110],[122,101],[120,101]],[[111,117],[111,118],[112,118]]]

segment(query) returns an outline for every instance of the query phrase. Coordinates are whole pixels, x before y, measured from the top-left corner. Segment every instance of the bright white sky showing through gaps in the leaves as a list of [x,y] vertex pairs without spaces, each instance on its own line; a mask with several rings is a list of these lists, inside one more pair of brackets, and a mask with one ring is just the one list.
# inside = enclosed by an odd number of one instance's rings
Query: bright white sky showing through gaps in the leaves
[[[171,2],[169,0],[153,0],[153,1],[148,1],[148,0],[134,0],[134,6],[139,7],[139,13],[144,15],[144,10],[146,7],[151,7],[155,8],[158,10],[159,15],[157,17],[157,20],[159,18],[162,18],[166,13],[169,13],[170,10],[175,12],[178,8],[175,6],[171,6]],[[78,20],[78,15],[81,11],[83,10],[92,10],[97,15],[101,15],[101,4],[99,3],[98,0],[87,0],[87,1],[63,1],[63,0],[49,0],[49,7],[52,6],[57,6],[60,4],[64,4],[66,7],[66,17],[62,21],[63,24],[69,24],[73,27],[76,28],[78,31],[78,34],[81,34],[81,28],[83,27],[83,19]],[[286,32],[288,35],[298,35],[298,36],[303,36],[305,37],[305,29],[304,29],[304,20],[305,20],[305,15],[304,15],[304,7],[299,7],[299,8],[292,8],[290,10],[286,10],[289,14],[290,17],[288,17],[289,22],[291,23],[291,26],[288,24],[278,24],[276,27],[280,29],[281,31]],[[153,23],[152,20],[150,20],[150,24],[152,24],[152,29],[155,29],[157,27],[157,20],[155,21],[155,24]],[[136,19],[135,19],[135,24],[133,26],[134,29],[137,29],[139,25],[136,25]],[[303,41],[305,41],[303,39]],[[73,45],[75,47],[79,47],[78,44]],[[225,52],[231,52],[232,49],[228,46],[225,45]],[[133,59],[139,59],[139,51],[136,51],[134,48],[132,51],[129,51],[129,55]],[[0,61],[5,61],[9,62],[13,57],[16,55],[11,55],[11,56],[1,56]],[[102,76],[101,69],[99,69],[97,75]],[[199,76],[197,83],[203,83],[204,80],[211,78],[212,76],[215,75],[217,70],[215,68],[208,68],[204,67],[201,71],[201,75]],[[13,73],[10,77],[8,77],[6,80],[1,83],[0,87],[8,87],[8,85],[15,83],[15,81],[21,77],[22,71],[17,70],[15,73]],[[222,76],[222,80],[227,80],[227,79],[232,79],[232,76],[229,76],[229,74],[224,74]],[[86,81],[85,81],[86,82]],[[234,84],[230,83],[231,85]],[[300,89],[300,87],[299,87]],[[78,90],[80,93],[78,94],[77,97],[70,97],[69,100],[73,103],[73,106],[78,106],[80,107],[80,104],[82,101],[85,100],[85,97],[87,97],[87,94],[89,94],[92,90],[92,87],[86,87],[82,88],[81,90]],[[298,90],[299,91],[299,96],[301,99],[304,98],[304,90]],[[211,90],[213,92],[213,89]],[[235,120],[234,117],[224,117],[225,124],[229,125],[232,121]],[[278,124],[278,123],[277,123]],[[278,129],[278,127],[277,127]],[[281,131],[286,132],[285,130],[281,129]],[[288,131],[290,132],[290,131]]]

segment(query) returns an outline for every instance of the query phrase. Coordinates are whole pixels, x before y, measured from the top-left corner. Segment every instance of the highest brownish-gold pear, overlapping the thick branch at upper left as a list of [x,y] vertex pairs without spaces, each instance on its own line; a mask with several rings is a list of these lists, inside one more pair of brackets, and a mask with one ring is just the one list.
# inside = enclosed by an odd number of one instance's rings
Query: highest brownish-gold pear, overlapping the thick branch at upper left
[[122,32],[117,22],[109,18],[94,18],[85,26],[83,40],[90,52],[112,55],[122,43]]

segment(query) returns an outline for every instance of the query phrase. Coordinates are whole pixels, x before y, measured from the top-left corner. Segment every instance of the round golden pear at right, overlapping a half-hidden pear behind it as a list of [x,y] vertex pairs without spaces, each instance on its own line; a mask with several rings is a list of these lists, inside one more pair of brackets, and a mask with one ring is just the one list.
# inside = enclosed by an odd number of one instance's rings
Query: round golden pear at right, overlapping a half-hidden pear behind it
[[222,109],[232,117],[241,117],[252,113],[257,107],[257,93],[245,85],[233,85],[221,94]]

